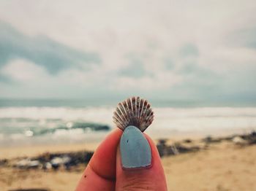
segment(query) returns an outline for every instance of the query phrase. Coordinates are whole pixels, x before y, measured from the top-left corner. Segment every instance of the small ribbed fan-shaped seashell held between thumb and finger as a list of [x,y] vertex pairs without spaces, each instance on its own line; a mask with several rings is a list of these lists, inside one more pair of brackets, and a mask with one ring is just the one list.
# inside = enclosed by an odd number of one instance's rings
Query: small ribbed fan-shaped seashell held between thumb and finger
[[121,130],[133,125],[143,132],[154,120],[151,105],[140,97],[127,98],[122,101],[113,114],[113,122]]

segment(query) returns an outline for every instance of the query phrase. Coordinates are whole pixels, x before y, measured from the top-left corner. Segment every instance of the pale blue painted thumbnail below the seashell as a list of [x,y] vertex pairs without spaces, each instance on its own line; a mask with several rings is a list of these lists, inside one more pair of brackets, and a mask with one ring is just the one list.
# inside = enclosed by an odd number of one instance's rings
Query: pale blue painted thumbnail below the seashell
[[125,128],[120,140],[123,168],[146,168],[151,165],[151,148],[143,133],[135,126]]

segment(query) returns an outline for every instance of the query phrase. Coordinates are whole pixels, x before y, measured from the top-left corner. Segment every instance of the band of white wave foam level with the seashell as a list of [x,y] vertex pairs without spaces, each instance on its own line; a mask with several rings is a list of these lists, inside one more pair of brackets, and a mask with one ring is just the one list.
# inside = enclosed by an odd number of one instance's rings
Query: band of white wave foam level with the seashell
[[[114,126],[112,107],[6,107],[0,108],[0,125],[38,126],[56,128],[56,125],[71,124],[77,120],[97,122]],[[159,130],[206,131],[225,129],[256,128],[256,108],[202,107],[202,108],[153,108],[155,120],[147,132],[154,134]],[[5,120],[9,118],[10,120]],[[26,119],[20,122],[18,118]],[[0,128],[1,130],[1,128]],[[1,132],[0,132],[1,133]]]

